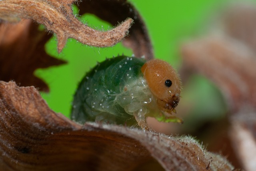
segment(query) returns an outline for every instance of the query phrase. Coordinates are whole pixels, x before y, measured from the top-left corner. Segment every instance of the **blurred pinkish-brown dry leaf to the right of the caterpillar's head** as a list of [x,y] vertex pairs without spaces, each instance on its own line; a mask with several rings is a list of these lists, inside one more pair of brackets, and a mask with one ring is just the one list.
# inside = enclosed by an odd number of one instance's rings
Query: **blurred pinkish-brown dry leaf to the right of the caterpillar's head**
[[208,36],[182,47],[186,68],[215,82],[237,111],[243,105],[256,104],[256,58],[254,52],[240,42],[221,36]]

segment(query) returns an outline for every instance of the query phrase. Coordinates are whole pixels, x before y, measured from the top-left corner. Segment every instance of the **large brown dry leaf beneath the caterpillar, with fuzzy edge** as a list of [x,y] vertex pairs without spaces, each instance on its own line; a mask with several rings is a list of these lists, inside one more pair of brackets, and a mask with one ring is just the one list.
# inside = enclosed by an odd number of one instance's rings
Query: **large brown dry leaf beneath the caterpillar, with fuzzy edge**
[[4,171],[143,170],[147,163],[166,170],[234,169],[190,137],[78,125],[50,110],[34,87],[14,82],[0,82],[0,137]]

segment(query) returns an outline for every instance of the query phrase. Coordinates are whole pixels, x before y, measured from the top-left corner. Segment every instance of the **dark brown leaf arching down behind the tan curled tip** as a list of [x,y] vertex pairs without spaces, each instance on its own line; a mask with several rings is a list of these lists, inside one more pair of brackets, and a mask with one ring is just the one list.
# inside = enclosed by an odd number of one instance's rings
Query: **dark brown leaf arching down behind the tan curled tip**
[[102,20],[115,25],[127,17],[134,20],[129,36],[123,44],[132,48],[136,57],[154,58],[151,40],[146,25],[139,12],[127,0],[83,0],[78,2],[79,14],[92,13]]

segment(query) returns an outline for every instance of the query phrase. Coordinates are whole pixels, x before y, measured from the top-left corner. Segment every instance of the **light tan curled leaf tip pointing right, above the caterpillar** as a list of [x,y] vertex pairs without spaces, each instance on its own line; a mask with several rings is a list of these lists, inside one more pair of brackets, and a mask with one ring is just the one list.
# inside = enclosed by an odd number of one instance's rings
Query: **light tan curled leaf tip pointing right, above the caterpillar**
[[68,38],[90,46],[113,46],[126,36],[133,22],[128,18],[112,30],[94,30],[75,18],[72,2],[74,0],[1,0],[0,19],[12,22],[24,18],[43,24],[56,34],[58,52],[62,51]]

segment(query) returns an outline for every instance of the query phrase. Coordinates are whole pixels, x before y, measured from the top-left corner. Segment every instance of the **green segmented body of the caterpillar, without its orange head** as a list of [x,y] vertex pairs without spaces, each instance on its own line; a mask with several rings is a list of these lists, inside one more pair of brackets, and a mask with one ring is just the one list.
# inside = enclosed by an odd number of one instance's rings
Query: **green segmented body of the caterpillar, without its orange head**
[[82,79],[74,95],[72,119],[80,123],[135,122],[133,112],[152,99],[141,72],[145,62],[142,58],[118,56],[95,66]]

